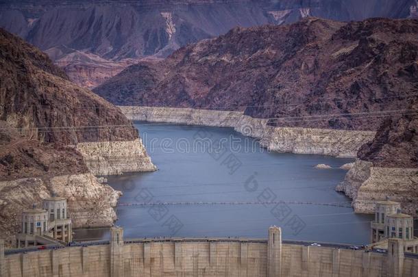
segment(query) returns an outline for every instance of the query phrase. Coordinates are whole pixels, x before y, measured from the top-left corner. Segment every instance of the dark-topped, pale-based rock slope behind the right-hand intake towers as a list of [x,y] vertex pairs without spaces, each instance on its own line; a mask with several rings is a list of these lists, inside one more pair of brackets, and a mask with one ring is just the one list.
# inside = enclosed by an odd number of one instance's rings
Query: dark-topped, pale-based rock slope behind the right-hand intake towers
[[353,198],[358,212],[373,212],[386,196],[416,215],[418,208],[418,97],[414,112],[382,122],[376,137],[358,151],[358,160],[337,187]]

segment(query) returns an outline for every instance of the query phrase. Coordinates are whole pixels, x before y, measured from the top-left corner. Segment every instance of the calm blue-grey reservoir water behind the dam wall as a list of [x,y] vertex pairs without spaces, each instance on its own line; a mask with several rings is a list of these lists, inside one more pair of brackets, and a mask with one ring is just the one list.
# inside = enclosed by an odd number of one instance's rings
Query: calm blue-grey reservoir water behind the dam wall
[[[125,237],[267,237],[276,225],[284,239],[369,242],[371,215],[324,205],[350,201],[334,188],[347,172],[339,167],[353,159],[269,153],[228,128],[136,127],[158,171],[108,177],[123,192],[116,225]],[[332,168],[315,168],[320,163]],[[108,230],[76,237],[106,238]]]

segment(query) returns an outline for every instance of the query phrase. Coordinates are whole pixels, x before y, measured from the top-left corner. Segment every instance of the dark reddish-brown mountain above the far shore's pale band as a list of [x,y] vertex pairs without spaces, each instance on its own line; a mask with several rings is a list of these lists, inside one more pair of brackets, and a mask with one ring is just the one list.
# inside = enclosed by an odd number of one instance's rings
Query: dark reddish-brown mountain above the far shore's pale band
[[417,20],[382,18],[238,27],[94,91],[117,105],[245,109],[271,126],[374,131],[418,94],[417,34]]

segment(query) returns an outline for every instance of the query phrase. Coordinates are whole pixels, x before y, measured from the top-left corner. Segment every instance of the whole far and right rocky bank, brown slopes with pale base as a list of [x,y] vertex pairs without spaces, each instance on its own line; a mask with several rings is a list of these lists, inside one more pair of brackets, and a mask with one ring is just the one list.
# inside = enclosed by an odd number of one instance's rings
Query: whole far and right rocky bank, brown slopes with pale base
[[[389,195],[415,213],[417,34],[417,20],[383,18],[235,28],[163,62],[130,66],[95,92],[162,107],[123,107],[143,120],[222,125],[211,110],[241,111],[228,126],[280,152],[350,157],[367,143],[337,189],[358,212]],[[167,115],[167,107],[200,110]]]

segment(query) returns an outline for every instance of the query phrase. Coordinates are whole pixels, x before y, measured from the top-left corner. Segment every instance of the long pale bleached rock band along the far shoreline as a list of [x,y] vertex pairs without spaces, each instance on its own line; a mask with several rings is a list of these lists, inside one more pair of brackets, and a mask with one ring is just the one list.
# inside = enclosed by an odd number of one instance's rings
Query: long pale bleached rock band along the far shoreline
[[208,109],[171,107],[119,106],[130,120],[168,122],[175,124],[230,127],[260,144],[280,153],[356,157],[363,144],[373,140],[373,131],[272,127],[268,120],[245,116],[243,111],[214,111]]

